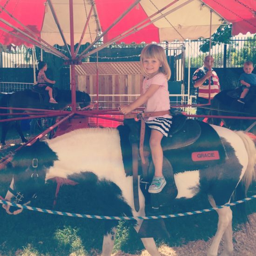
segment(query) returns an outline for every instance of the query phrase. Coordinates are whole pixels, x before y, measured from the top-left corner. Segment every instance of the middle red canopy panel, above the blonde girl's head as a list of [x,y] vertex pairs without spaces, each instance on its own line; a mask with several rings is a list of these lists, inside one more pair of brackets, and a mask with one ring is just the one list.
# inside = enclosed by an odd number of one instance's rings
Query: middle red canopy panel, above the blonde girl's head
[[[135,0],[95,0],[97,12],[101,22],[101,29],[104,32],[112,23],[130,7]],[[111,28],[109,32],[104,36],[104,42],[115,38],[123,32],[126,32],[129,28],[134,27],[142,20],[145,20],[148,15],[145,13],[140,4],[137,4],[127,15],[124,16],[115,27]],[[159,41],[158,28],[151,24],[144,27],[143,30],[138,31],[130,36],[125,37],[119,42],[124,43],[151,43],[152,41]]]

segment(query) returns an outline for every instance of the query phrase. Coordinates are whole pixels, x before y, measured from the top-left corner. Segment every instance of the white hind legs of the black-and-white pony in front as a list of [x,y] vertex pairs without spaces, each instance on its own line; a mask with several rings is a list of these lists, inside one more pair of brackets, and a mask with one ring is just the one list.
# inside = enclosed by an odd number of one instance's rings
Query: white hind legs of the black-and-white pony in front
[[[216,207],[216,203],[212,196],[209,196],[209,202],[213,207]],[[207,256],[217,256],[219,245],[224,235],[225,245],[222,256],[230,256],[233,253],[233,242],[232,242],[232,211],[230,207],[224,207],[217,209],[219,220],[217,232],[213,238],[211,246],[208,250]]]

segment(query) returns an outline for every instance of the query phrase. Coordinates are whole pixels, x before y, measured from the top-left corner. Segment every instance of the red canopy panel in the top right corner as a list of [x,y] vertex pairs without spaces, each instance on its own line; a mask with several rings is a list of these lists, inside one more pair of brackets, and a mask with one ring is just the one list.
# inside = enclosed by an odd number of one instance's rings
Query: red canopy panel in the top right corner
[[256,33],[256,0],[203,0],[232,23],[232,35]]

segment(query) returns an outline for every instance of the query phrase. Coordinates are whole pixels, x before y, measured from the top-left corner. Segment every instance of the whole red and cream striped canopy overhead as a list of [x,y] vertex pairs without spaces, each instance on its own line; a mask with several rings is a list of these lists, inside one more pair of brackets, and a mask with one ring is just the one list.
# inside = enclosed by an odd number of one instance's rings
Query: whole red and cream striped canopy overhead
[[233,35],[256,33],[256,0],[0,0],[0,7],[3,45],[84,44],[102,33],[104,43],[209,38],[210,25],[214,33],[223,21]]

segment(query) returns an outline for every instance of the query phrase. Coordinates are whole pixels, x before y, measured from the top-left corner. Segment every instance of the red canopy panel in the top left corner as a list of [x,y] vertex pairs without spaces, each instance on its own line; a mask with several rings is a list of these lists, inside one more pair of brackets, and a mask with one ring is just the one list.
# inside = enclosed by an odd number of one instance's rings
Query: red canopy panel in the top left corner
[[[13,15],[13,17],[15,17],[29,29],[31,29],[38,37],[40,37],[40,31],[42,28],[45,13],[45,1],[46,0],[22,0],[22,4],[20,4],[20,0],[0,0],[0,5],[2,7],[5,7],[5,9],[9,13],[11,13],[11,15]],[[13,20],[2,9],[0,9],[0,19],[6,20],[13,26],[27,33],[27,31],[18,22]],[[24,36],[20,32],[17,32],[14,28],[7,26],[3,22],[1,22],[1,20],[0,27],[18,35],[19,37],[24,38]],[[11,43],[13,43],[14,45],[25,44],[29,47],[32,46],[30,43],[11,34],[8,34],[3,30],[0,30],[0,43],[3,45],[10,45]]]

